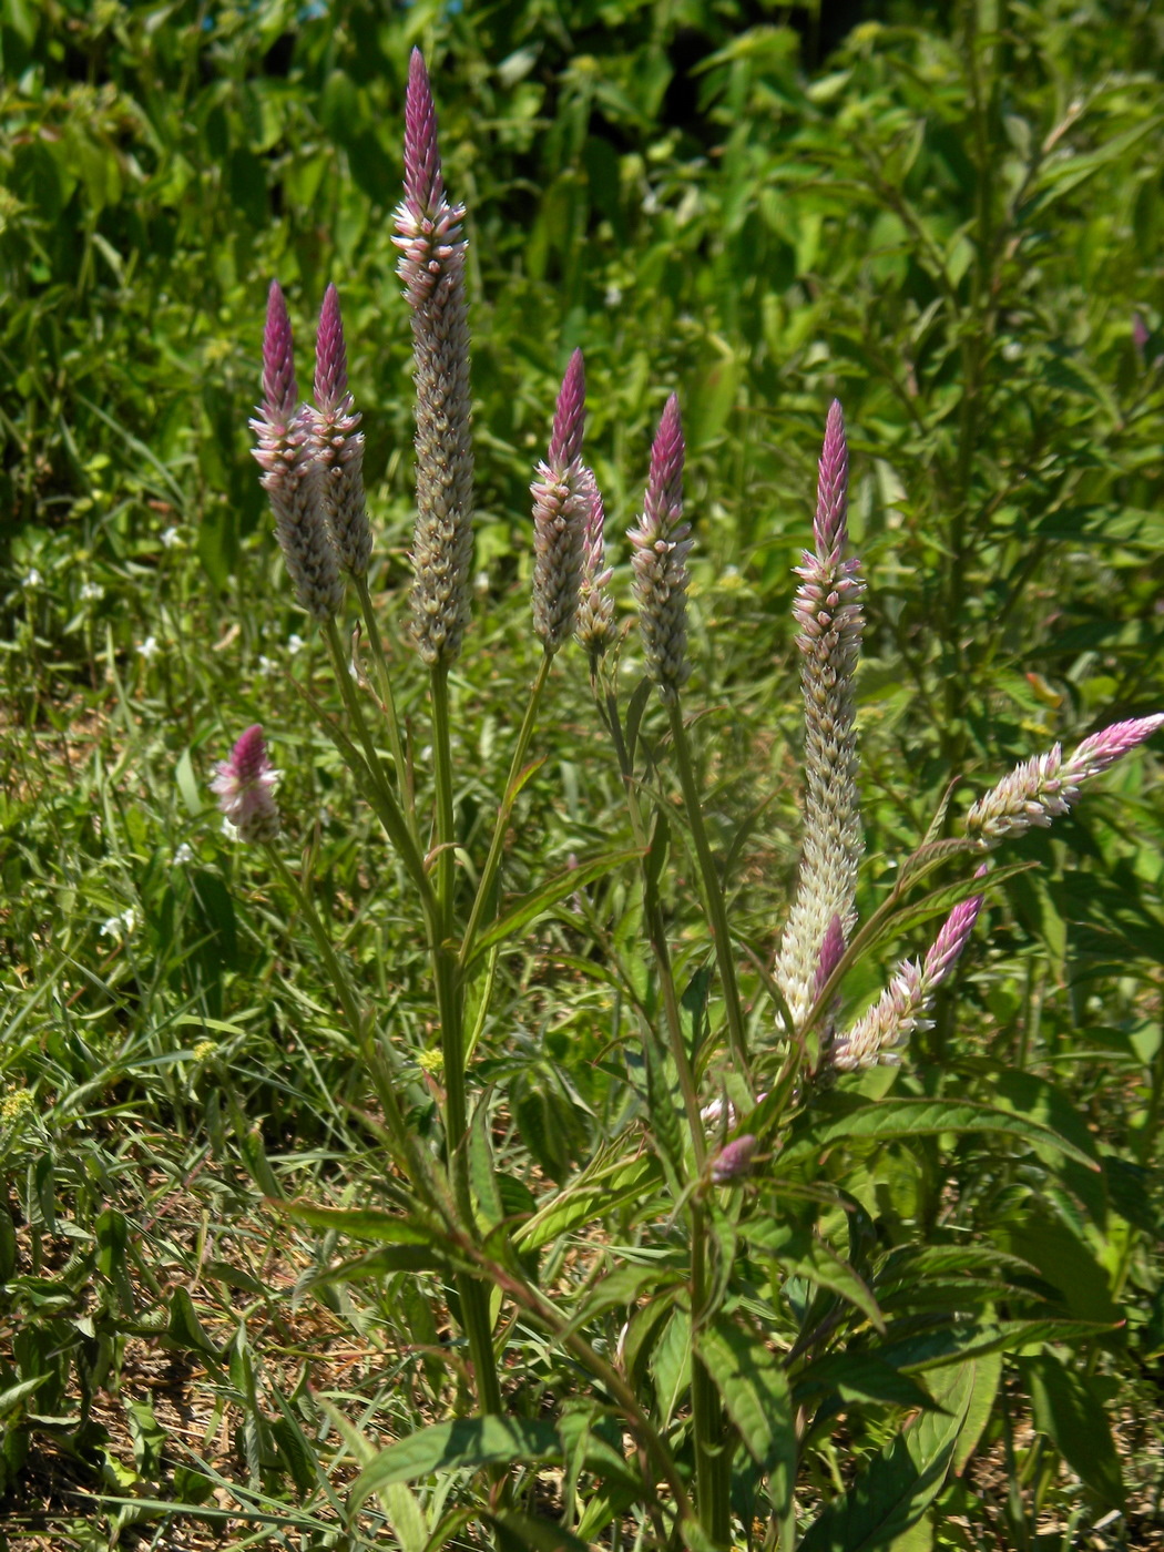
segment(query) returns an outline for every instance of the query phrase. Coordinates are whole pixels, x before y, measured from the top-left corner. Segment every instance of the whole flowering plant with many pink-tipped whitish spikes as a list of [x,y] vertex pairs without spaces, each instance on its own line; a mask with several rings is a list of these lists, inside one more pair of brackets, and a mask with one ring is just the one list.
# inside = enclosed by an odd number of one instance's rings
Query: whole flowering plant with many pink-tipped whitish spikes
[[[930,1262],[913,1263],[878,1252],[868,1242],[861,1201],[830,1156],[902,1138],[925,1144],[986,1133],[1072,1167],[1097,1164],[1055,1127],[1003,1105],[973,1103],[941,1086],[877,1100],[846,1088],[844,1074],[905,1060],[989,891],[1013,872],[990,871],[984,854],[1066,813],[1086,781],[1164,726],[1164,714],[1113,723],[1066,760],[1055,747],[1024,762],[961,826],[944,809],[861,925],[855,686],[864,580],[847,553],[849,455],[833,404],[813,546],[798,570],[795,601],[802,858],[774,961],[753,964],[745,981],[683,700],[692,670],[686,562],[694,539],[684,518],[678,399],[672,394],[663,408],[643,509],[629,532],[643,678],[627,697],[604,503],[585,462],[584,362],[574,352],[531,484],[532,625],[542,663],[489,847],[464,866],[450,669],[472,625],[466,237],[464,210],[445,192],[419,53],[405,126],[396,242],[414,345],[411,641],[428,675],[428,750],[397,714],[369,591],[363,438],[334,287],[320,318],[314,404],[300,405],[289,314],[272,284],[262,405],[251,424],[287,574],[323,635],[343,698],[343,720],[320,712],[320,725],[394,849],[424,925],[439,1031],[439,1057],[427,1054],[424,1068],[438,1099],[439,1147],[414,1124],[404,1054],[332,944],[309,874],[295,874],[281,855],[275,771],[259,728],[242,734],[213,784],[239,838],[265,847],[309,923],[374,1085],[390,1162],[385,1203],[374,1211],[312,1203],[286,1211],[300,1223],[376,1242],[368,1256],[329,1268],[326,1280],[421,1273],[435,1279],[433,1297],[444,1285],[467,1350],[452,1415],[379,1450],[363,1442],[349,1515],[355,1523],[379,1498],[397,1530],[419,1515],[421,1544],[428,1546],[469,1519],[498,1546],[576,1547],[607,1536],[618,1544],[627,1526],[643,1544],[681,1543],[692,1552],[739,1541],[807,1552],[897,1544],[975,1450],[999,1384],[998,1355],[1032,1341],[1069,1342],[1079,1322],[1072,1327],[1048,1304],[1031,1268],[990,1246],[936,1245]],[[341,635],[349,588],[371,680]],[[529,751],[551,669],[571,636],[585,653],[596,717],[622,781],[632,844],[512,899],[503,888],[506,832],[532,776]],[[652,688],[666,739],[649,743]],[[681,792],[714,989],[702,975],[683,986],[669,933],[663,878],[680,815],[663,790],[667,768]],[[945,882],[934,885],[939,869]],[[489,1100],[473,1085],[478,1034],[506,945],[534,919],[618,872],[633,878],[649,961],[641,975],[625,976],[638,1076],[629,1083],[625,1124],[554,1192],[535,1175],[517,1181],[497,1167]],[[903,961],[871,1006],[849,1006],[849,972],[891,934],[931,920],[941,925],[927,953]],[[610,975],[621,975],[613,950]],[[625,1248],[598,1232],[616,1209],[633,1238]],[[917,1288],[923,1274],[930,1302]],[[542,1333],[553,1378],[534,1381],[509,1369],[509,1333],[518,1322]],[[805,1460],[841,1406],[888,1419],[888,1442],[850,1485],[838,1479],[826,1488],[812,1474],[805,1479]],[[562,1473],[549,1519],[539,1507],[546,1464]],[[450,1473],[469,1474],[453,1487]],[[444,1487],[424,1504],[407,1488],[435,1479]],[[455,1507],[441,1516],[441,1504]]]

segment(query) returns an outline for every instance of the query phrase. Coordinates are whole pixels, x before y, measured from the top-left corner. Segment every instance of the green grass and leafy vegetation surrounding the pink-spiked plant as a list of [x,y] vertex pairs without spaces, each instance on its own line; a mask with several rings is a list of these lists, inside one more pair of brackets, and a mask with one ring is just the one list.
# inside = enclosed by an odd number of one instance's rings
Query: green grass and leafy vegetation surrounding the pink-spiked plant
[[[697,540],[686,709],[702,712],[691,736],[753,1038],[776,1051],[764,976],[799,847],[792,568],[833,396],[871,579],[864,919],[951,782],[961,813],[1055,740],[1164,709],[1156,9],[868,5],[830,34],[827,16],[742,0],[0,3],[11,1546],[28,1533],[84,1549],[118,1536],[355,1549],[386,1538],[385,1519],[407,1552],[484,1535],[456,1507],[464,1473],[393,1482],[360,1507],[349,1496],[380,1445],[464,1409],[469,1377],[439,1270],[372,1252],[326,1277],[359,1246],[318,1212],[278,1207],[383,1206],[377,1099],[292,897],[220,833],[206,788],[242,728],[264,723],[287,860],[309,854],[318,908],[397,1052],[410,1124],[436,1148],[439,1041],[414,902],[304,719],[301,689],[340,700],[286,584],[247,430],[268,279],[301,349],[335,281],[368,438],[372,585],[422,748],[424,678],[404,632],[411,343],[391,245],[413,43],[449,186],[469,206],[480,512],[475,621],[452,684],[458,841],[467,857],[487,846],[514,708],[537,670],[528,487],[582,346],[627,622],[621,534],[667,393],[683,404]],[[635,650],[632,635],[629,688]],[[508,840],[509,896],[632,840],[579,655],[562,655],[546,706],[543,765]],[[658,708],[644,737],[666,743]],[[739,1297],[787,1318],[771,1327],[781,1353],[809,1316],[837,1342],[819,1363],[841,1367],[795,1392],[799,1529],[816,1549],[1068,1549],[1086,1532],[1152,1544],[1159,748],[1012,847],[1007,861],[1031,866],[992,892],[934,1027],[903,1068],[841,1079],[804,1122],[837,1122],[858,1099],[931,1097],[989,1102],[1026,1135],[846,1142],[835,1128],[801,1175],[760,1166],[737,1192],[788,1228]],[[669,802],[664,759],[655,779]],[[711,961],[680,841],[672,852],[664,905],[698,1024]],[[916,920],[878,944],[846,999],[872,998],[930,931]],[[650,1110],[641,954],[630,868],[537,917],[498,959],[473,1077],[498,1217],[568,1190]],[[714,992],[708,1010],[719,1017]],[[489,1187],[478,1195],[489,1217]],[[666,1220],[664,1197],[611,1201],[601,1234],[566,1225],[542,1246],[543,1285],[580,1307],[611,1248]],[[625,1280],[621,1302],[588,1311],[601,1352],[636,1305],[653,1307],[646,1287]],[[658,1313],[629,1361],[689,1470],[680,1322]],[[878,1322],[888,1336],[861,1369]],[[508,1305],[501,1324],[509,1403],[537,1420],[577,1377]],[[902,1465],[894,1440],[930,1397],[948,1400],[950,1355],[970,1350],[975,1428],[958,1450],[947,1440],[928,1487],[909,1479],[916,1513],[847,1540],[824,1505],[878,1457]],[[521,1533],[540,1516],[549,1538],[525,1544],[598,1535],[588,1509],[615,1488],[596,1481],[582,1445],[556,1473],[518,1473]],[[757,1547],[787,1536],[764,1491],[737,1459],[734,1524]],[[512,1544],[518,1530],[490,1533]],[[627,1509],[604,1535],[650,1544],[655,1527]]]

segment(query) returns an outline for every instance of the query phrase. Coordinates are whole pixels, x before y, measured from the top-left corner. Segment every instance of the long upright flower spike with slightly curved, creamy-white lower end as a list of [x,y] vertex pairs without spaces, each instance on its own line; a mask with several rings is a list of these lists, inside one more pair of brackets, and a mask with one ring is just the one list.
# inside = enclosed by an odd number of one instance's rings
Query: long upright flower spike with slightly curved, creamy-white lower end
[[[804,692],[804,847],[788,925],[776,958],[776,981],[799,1026],[816,999],[821,956],[830,934],[852,934],[861,816],[857,802],[857,703],[854,678],[861,650],[860,562],[844,560],[849,450],[841,407],[833,399],[824,430],[816,486],[815,553],[796,568],[793,615],[799,625]],[[833,945],[835,947],[835,945]]]

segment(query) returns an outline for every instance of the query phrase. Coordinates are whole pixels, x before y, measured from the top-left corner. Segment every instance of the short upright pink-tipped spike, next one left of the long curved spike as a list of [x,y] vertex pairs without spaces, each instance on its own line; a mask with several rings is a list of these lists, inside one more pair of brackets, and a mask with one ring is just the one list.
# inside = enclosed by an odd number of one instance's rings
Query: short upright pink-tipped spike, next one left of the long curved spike
[[627,534],[643,655],[664,700],[675,700],[691,674],[684,562],[692,540],[691,525],[683,521],[683,424],[672,394],[650,449],[643,515]]

